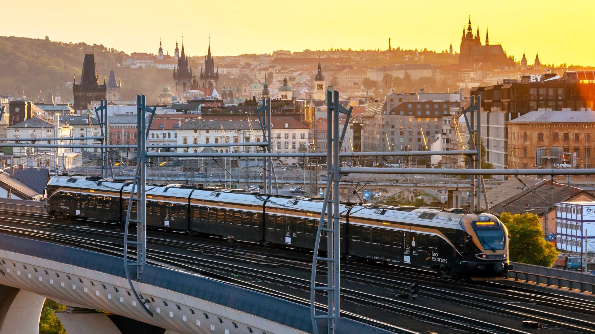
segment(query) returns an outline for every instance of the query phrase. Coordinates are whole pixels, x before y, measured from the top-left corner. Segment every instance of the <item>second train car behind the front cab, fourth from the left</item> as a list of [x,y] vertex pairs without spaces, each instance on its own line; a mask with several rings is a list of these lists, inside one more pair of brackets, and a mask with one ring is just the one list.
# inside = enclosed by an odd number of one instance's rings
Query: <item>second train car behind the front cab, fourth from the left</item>
[[[296,248],[314,249],[320,212],[322,210],[320,197],[270,197],[265,204],[265,234],[264,241],[270,244],[284,245]],[[342,204],[344,215],[339,220],[340,251],[346,252],[345,224],[347,206]],[[326,232],[322,232],[326,236]],[[327,249],[326,238],[322,238],[320,250]]]

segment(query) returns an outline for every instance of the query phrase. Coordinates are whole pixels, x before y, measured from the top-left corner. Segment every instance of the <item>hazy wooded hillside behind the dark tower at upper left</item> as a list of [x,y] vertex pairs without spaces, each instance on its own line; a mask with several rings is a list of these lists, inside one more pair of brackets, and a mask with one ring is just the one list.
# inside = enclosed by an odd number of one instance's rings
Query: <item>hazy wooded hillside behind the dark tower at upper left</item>
[[131,70],[116,67],[126,53],[108,49],[103,45],[52,42],[46,39],[0,36],[0,94],[25,92],[36,97],[39,91],[46,96],[48,89],[56,93],[60,87],[62,100],[70,100],[72,88],[66,87],[76,77],[80,81],[84,53],[94,52],[100,81],[110,68],[122,81],[122,97],[134,100],[136,94],[145,94],[149,101],[156,99],[165,84],[173,83],[171,71],[147,68]]

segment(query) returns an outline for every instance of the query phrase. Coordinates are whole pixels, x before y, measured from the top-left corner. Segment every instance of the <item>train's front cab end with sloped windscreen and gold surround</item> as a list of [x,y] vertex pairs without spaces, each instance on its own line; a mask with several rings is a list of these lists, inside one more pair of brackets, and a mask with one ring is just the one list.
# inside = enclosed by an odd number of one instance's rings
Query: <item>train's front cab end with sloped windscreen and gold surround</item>
[[468,237],[459,271],[472,281],[504,279],[510,267],[506,226],[487,213],[465,215],[463,224]]

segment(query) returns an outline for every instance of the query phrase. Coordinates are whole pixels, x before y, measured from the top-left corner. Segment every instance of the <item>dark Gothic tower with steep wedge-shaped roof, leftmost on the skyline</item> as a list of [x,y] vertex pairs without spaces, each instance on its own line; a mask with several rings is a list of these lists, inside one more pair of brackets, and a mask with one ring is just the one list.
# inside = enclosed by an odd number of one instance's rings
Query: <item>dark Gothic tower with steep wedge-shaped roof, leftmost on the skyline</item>
[[73,81],[74,110],[87,109],[91,102],[105,99],[105,93],[107,92],[105,79],[104,84],[101,85],[97,80],[95,55],[87,53],[84,55],[80,84],[76,84],[76,80]]

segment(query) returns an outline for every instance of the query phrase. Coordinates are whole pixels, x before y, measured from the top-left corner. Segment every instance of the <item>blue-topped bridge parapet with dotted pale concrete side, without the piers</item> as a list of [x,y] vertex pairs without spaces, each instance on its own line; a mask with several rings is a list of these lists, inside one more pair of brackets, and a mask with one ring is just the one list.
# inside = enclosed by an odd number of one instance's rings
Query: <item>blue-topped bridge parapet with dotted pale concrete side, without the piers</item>
[[[223,282],[148,264],[136,291],[123,260],[107,254],[0,234],[0,284],[73,307],[98,308],[176,333],[311,333],[309,307]],[[319,326],[324,333],[325,326]],[[337,333],[389,333],[342,318]]]

